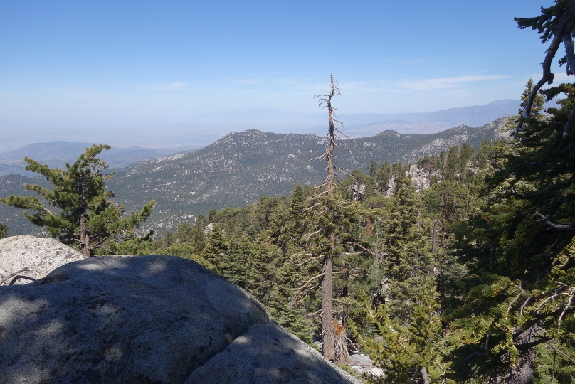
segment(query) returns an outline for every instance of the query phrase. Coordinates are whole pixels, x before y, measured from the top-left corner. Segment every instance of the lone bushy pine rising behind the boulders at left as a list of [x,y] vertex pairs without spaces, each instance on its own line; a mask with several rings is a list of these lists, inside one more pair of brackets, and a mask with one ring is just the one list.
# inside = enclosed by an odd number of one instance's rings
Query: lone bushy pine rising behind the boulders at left
[[[36,196],[9,196],[0,202],[16,208],[32,210],[24,216],[31,223],[44,227],[64,244],[79,247],[86,256],[95,250],[114,252],[118,242],[132,240],[134,230],[152,213],[155,201],[149,201],[140,212],[123,215],[123,206],[110,200],[114,193],[107,191],[105,180],[112,174],[98,154],[110,146],[100,144],[86,148],[74,164],[66,169],[50,168],[26,157],[27,171],[46,177],[53,184],[52,190],[36,184],[26,184]],[[47,204],[43,203],[46,201]],[[56,210],[48,209],[53,206]]]

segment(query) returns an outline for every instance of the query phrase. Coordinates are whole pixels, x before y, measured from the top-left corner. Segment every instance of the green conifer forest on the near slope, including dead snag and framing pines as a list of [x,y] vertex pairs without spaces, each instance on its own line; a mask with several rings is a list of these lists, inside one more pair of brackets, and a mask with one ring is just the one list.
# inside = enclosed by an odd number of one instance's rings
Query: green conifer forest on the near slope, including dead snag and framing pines
[[[326,164],[322,185],[296,183],[290,196],[212,209],[160,237],[139,237],[154,201],[130,215],[107,203],[98,147],[68,169],[88,180],[93,208],[70,210],[70,196],[56,196],[63,213],[52,220],[38,199],[1,201],[36,211],[29,220],[91,255],[199,262],[326,358],[344,365],[349,353],[370,356],[385,375],[366,383],[575,383],[575,85],[556,84],[550,71],[556,60],[573,74],[575,1],[516,22],[539,33],[545,60],[542,78],[517,95],[510,139],[453,146],[413,164],[372,159],[339,169],[338,158],[354,154],[332,78],[317,96],[327,148],[310,160]],[[545,109],[549,100],[556,107]],[[97,185],[83,169],[99,175]],[[116,224],[102,229],[108,222]],[[87,225],[99,228],[92,242],[81,233]]]

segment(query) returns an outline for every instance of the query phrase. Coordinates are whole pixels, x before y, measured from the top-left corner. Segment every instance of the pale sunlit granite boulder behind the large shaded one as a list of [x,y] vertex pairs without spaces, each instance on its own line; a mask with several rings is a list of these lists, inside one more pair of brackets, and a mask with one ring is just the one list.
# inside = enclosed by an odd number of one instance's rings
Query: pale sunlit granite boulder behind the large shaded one
[[[55,239],[34,236],[12,236],[0,239],[0,281],[4,285],[28,284],[68,262],[83,260],[85,256]],[[16,274],[23,268],[28,270]],[[1,284],[0,284],[1,285]]]

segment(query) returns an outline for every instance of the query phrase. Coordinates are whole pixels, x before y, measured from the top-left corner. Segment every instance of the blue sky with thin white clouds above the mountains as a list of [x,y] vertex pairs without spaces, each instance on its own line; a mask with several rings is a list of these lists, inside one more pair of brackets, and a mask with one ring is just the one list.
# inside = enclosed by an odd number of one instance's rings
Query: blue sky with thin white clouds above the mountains
[[513,17],[550,4],[1,1],[0,124],[121,130],[191,127],[226,110],[317,113],[330,73],[344,114],[517,99],[546,46]]

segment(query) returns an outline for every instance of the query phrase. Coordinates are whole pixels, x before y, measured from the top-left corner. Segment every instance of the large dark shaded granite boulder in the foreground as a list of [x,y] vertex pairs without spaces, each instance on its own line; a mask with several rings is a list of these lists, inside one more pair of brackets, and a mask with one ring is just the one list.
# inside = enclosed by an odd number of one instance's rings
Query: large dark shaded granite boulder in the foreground
[[0,345],[0,383],[357,383],[179,257],[90,257],[0,287]]

